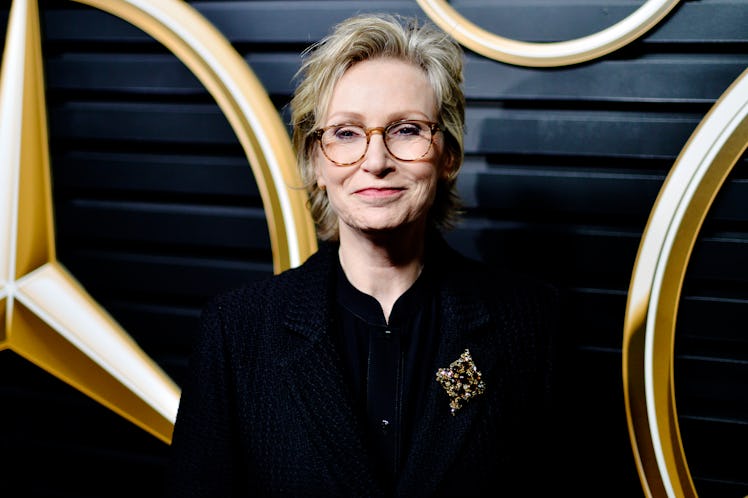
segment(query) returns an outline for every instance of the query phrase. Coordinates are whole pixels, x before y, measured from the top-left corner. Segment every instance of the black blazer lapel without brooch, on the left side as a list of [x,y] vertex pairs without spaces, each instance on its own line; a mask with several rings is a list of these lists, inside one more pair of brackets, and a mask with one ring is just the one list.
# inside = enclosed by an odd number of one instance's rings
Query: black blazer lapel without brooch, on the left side
[[[327,251],[329,253],[330,251]],[[337,486],[331,496],[381,495],[363,444],[363,431],[354,412],[342,362],[330,336],[332,326],[332,257],[321,254],[319,264],[302,275],[298,293],[288,302],[285,327],[298,336],[298,345],[282,362],[285,384],[300,410],[316,450]]]

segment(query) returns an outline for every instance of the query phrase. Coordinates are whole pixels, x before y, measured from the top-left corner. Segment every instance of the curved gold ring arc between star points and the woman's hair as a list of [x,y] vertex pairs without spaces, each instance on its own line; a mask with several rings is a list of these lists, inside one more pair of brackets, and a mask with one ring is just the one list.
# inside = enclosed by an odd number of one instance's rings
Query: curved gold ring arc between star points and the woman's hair
[[260,190],[276,273],[317,250],[306,192],[283,122],[255,74],[231,43],[180,0],[76,0],[137,26],[175,54],[223,111]]

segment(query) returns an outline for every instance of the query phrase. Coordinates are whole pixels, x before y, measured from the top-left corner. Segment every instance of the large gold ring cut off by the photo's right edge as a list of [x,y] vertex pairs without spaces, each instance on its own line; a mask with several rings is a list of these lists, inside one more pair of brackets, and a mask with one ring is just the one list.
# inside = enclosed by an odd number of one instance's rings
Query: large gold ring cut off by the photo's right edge
[[748,70],[689,138],[639,245],[626,303],[622,366],[629,436],[647,496],[697,496],[675,406],[675,320],[703,221],[747,146]]

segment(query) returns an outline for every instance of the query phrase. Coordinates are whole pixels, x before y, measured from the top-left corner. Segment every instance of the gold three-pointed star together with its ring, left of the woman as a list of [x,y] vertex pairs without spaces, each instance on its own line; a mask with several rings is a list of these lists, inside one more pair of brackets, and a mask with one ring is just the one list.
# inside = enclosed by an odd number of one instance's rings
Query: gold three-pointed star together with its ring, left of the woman
[[[77,0],[143,29],[202,81],[237,134],[265,206],[276,272],[316,246],[285,126],[231,44],[180,0]],[[180,391],[57,261],[39,13],[11,6],[0,75],[0,350],[10,349],[165,442]],[[1,360],[2,358],[0,358]]]

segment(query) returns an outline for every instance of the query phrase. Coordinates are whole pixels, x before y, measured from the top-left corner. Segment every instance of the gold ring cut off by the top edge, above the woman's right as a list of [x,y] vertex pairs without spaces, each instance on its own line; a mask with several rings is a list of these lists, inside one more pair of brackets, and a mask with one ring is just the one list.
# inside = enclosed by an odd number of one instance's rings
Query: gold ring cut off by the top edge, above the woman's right
[[490,59],[519,66],[553,67],[577,64],[609,54],[657,25],[678,0],[647,0],[616,24],[573,40],[532,43],[490,33],[465,19],[445,0],[417,0],[434,23],[462,45]]

